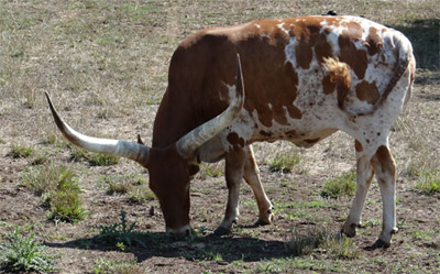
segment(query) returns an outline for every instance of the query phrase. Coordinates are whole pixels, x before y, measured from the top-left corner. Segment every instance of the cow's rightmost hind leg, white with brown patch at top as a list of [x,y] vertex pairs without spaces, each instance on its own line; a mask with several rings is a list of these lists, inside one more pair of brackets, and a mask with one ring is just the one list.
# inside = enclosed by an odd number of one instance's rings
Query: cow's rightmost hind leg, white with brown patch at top
[[386,145],[381,145],[372,158],[383,202],[383,223],[378,240],[372,248],[388,248],[396,226],[396,164]]

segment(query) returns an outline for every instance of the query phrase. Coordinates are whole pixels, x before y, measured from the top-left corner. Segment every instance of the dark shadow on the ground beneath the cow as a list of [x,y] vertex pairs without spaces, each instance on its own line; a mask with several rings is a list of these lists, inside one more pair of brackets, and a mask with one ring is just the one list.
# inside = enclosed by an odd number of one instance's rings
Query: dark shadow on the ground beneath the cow
[[134,254],[138,262],[152,256],[185,257],[194,260],[220,260],[231,263],[237,260],[257,262],[275,257],[293,256],[288,241],[261,240],[254,237],[223,235],[213,233],[206,235],[176,239],[165,232],[135,232],[130,237],[131,243],[100,235],[55,243],[45,242],[50,248],[81,249],[97,251],[122,251]]

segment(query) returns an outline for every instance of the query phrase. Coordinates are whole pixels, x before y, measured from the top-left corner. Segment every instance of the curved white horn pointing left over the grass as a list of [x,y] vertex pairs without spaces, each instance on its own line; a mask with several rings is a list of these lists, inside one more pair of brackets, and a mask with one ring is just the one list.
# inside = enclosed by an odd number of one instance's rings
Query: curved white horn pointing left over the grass
[[91,138],[75,131],[58,116],[47,91],[45,91],[45,94],[55,123],[68,141],[79,147],[86,149],[91,152],[99,152],[111,154],[114,156],[127,157],[134,160],[140,164],[146,165],[150,155],[148,146],[135,142]]

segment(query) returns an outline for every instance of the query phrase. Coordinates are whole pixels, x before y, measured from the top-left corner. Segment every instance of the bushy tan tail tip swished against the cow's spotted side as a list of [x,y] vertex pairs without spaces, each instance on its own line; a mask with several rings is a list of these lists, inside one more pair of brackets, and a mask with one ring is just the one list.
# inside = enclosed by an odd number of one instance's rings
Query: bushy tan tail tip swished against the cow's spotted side
[[338,95],[338,107],[344,110],[344,100],[351,86],[350,66],[338,58],[323,58],[323,66]]

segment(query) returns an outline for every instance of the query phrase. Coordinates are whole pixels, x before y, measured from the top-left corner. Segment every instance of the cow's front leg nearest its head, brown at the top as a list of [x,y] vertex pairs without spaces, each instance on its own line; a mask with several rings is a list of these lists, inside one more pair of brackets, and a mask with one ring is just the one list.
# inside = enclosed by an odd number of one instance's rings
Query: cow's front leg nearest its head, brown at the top
[[215,233],[222,235],[231,231],[232,224],[239,218],[240,184],[243,178],[243,167],[246,153],[241,149],[234,149],[226,155],[226,179],[228,186],[228,204],[224,219]]

